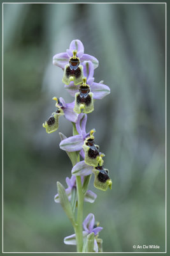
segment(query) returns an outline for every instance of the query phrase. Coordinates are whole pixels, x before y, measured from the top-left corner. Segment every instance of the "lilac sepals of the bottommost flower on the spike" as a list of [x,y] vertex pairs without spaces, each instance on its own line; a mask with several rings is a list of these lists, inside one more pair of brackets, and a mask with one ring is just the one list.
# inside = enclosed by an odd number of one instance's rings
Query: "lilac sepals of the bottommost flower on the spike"
[[[83,239],[85,240],[85,238],[91,234],[94,233],[94,252],[98,252],[98,245],[97,245],[97,237],[99,232],[103,230],[103,227],[97,227],[97,225],[95,224],[95,218],[94,218],[94,214],[90,213],[89,215],[87,215],[87,217],[85,218],[85,220],[83,221]],[[76,244],[76,234],[73,234],[71,236],[67,236],[64,238],[64,243],[65,244]]]

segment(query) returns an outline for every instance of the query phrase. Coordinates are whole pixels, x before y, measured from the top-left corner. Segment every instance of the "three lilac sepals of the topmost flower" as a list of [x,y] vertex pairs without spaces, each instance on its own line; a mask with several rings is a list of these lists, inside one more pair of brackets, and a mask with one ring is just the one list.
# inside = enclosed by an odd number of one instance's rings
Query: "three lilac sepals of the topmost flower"
[[69,59],[73,57],[73,51],[76,51],[76,56],[80,59],[80,64],[84,61],[92,61],[94,68],[98,67],[99,61],[94,56],[84,53],[83,44],[78,39],[71,42],[66,52],[53,56],[53,65],[64,69],[69,64]]

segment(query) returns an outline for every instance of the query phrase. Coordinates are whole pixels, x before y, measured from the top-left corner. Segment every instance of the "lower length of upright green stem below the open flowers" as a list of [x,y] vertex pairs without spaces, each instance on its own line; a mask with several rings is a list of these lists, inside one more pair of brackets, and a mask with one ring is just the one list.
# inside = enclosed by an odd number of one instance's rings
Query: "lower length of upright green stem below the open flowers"
[[76,176],[76,187],[78,195],[78,209],[77,209],[77,222],[76,222],[76,244],[77,252],[82,252],[83,248],[83,192],[81,186],[81,176]]

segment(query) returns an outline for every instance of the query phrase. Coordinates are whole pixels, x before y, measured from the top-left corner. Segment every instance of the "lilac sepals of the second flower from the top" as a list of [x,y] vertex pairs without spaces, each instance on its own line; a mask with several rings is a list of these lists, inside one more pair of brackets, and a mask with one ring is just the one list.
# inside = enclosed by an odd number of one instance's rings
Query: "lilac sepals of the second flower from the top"
[[[94,82],[94,67],[90,61],[85,61],[83,63],[83,76],[87,78],[87,84],[90,86],[90,92],[93,93],[93,99],[103,99],[106,95],[110,93],[110,88],[100,83]],[[75,97],[75,94],[79,92],[80,85],[75,85],[74,82],[65,84],[66,90],[71,96]]]

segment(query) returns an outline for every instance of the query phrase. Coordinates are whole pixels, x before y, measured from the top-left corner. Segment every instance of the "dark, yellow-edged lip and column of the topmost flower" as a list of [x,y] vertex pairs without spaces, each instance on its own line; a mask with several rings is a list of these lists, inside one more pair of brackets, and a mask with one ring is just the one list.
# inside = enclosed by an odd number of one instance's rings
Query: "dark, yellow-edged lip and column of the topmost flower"
[[74,81],[74,84],[81,84],[83,77],[83,66],[80,65],[80,58],[76,56],[76,50],[73,51],[73,57],[69,59],[69,64],[64,68],[62,82],[69,84]]

